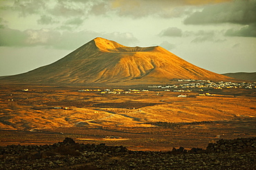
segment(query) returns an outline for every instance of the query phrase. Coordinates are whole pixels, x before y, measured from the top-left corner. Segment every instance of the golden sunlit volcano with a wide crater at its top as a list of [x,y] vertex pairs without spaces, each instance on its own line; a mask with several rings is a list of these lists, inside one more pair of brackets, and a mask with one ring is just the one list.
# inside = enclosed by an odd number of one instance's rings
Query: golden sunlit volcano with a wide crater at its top
[[230,80],[196,67],[163,47],[126,47],[96,38],[64,58],[36,70],[8,76],[18,83],[167,83],[172,78]]

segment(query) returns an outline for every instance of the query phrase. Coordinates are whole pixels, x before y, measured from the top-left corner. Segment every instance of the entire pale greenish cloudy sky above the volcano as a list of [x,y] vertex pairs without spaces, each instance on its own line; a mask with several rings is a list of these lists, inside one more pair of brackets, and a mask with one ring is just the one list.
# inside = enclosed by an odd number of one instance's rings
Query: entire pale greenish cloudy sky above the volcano
[[0,0],[0,76],[53,63],[95,37],[160,45],[219,74],[256,72],[256,0]]

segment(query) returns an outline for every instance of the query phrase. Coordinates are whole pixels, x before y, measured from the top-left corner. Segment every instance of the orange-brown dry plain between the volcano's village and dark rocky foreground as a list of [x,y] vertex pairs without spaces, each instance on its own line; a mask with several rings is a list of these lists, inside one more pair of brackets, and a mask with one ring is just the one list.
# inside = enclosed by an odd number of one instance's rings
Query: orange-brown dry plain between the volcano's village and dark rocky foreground
[[[21,90],[27,88],[28,92]],[[219,138],[256,136],[256,89],[206,89],[215,96],[194,98],[158,89],[77,92],[86,88],[1,85],[0,146],[43,145],[70,137],[77,142],[166,151],[205,148]]]

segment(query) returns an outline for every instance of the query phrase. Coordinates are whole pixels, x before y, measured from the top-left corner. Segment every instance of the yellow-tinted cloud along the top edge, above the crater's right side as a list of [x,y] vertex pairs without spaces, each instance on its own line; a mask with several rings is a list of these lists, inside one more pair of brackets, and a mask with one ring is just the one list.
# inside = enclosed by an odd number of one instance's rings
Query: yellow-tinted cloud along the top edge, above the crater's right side
[[[159,17],[181,17],[187,14],[183,6],[201,6],[206,4],[223,3],[232,0],[111,0],[111,9],[120,16],[126,17],[147,17],[156,15]],[[177,8],[178,7],[178,8]]]

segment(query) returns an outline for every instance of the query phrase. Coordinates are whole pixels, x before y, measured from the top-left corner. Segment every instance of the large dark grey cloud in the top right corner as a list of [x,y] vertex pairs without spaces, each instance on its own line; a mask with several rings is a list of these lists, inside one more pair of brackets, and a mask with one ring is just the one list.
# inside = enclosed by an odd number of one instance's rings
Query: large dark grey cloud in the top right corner
[[238,23],[242,25],[256,23],[256,0],[232,1],[205,6],[201,12],[194,12],[185,24]]

